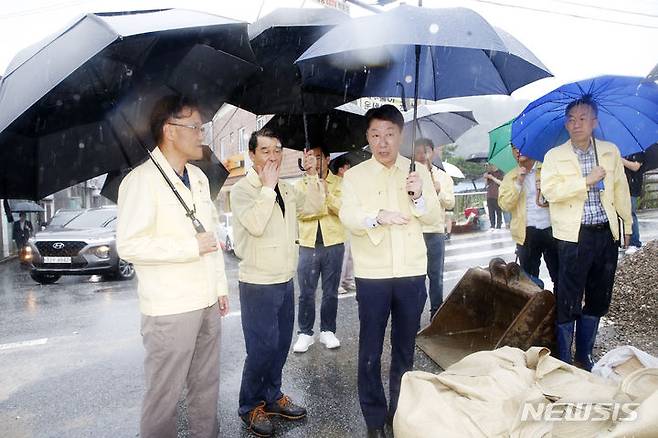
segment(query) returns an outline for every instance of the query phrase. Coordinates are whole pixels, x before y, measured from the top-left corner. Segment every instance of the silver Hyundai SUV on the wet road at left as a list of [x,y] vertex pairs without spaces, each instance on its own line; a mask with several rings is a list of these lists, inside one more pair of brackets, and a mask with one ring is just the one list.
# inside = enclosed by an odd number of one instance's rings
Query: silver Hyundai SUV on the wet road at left
[[104,275],[116,280],[135,276],[132,264],[116,249],[116,207],[90,208],[60,227],[46,228],[28,241],[30,275],[41,284],[62,275]]

